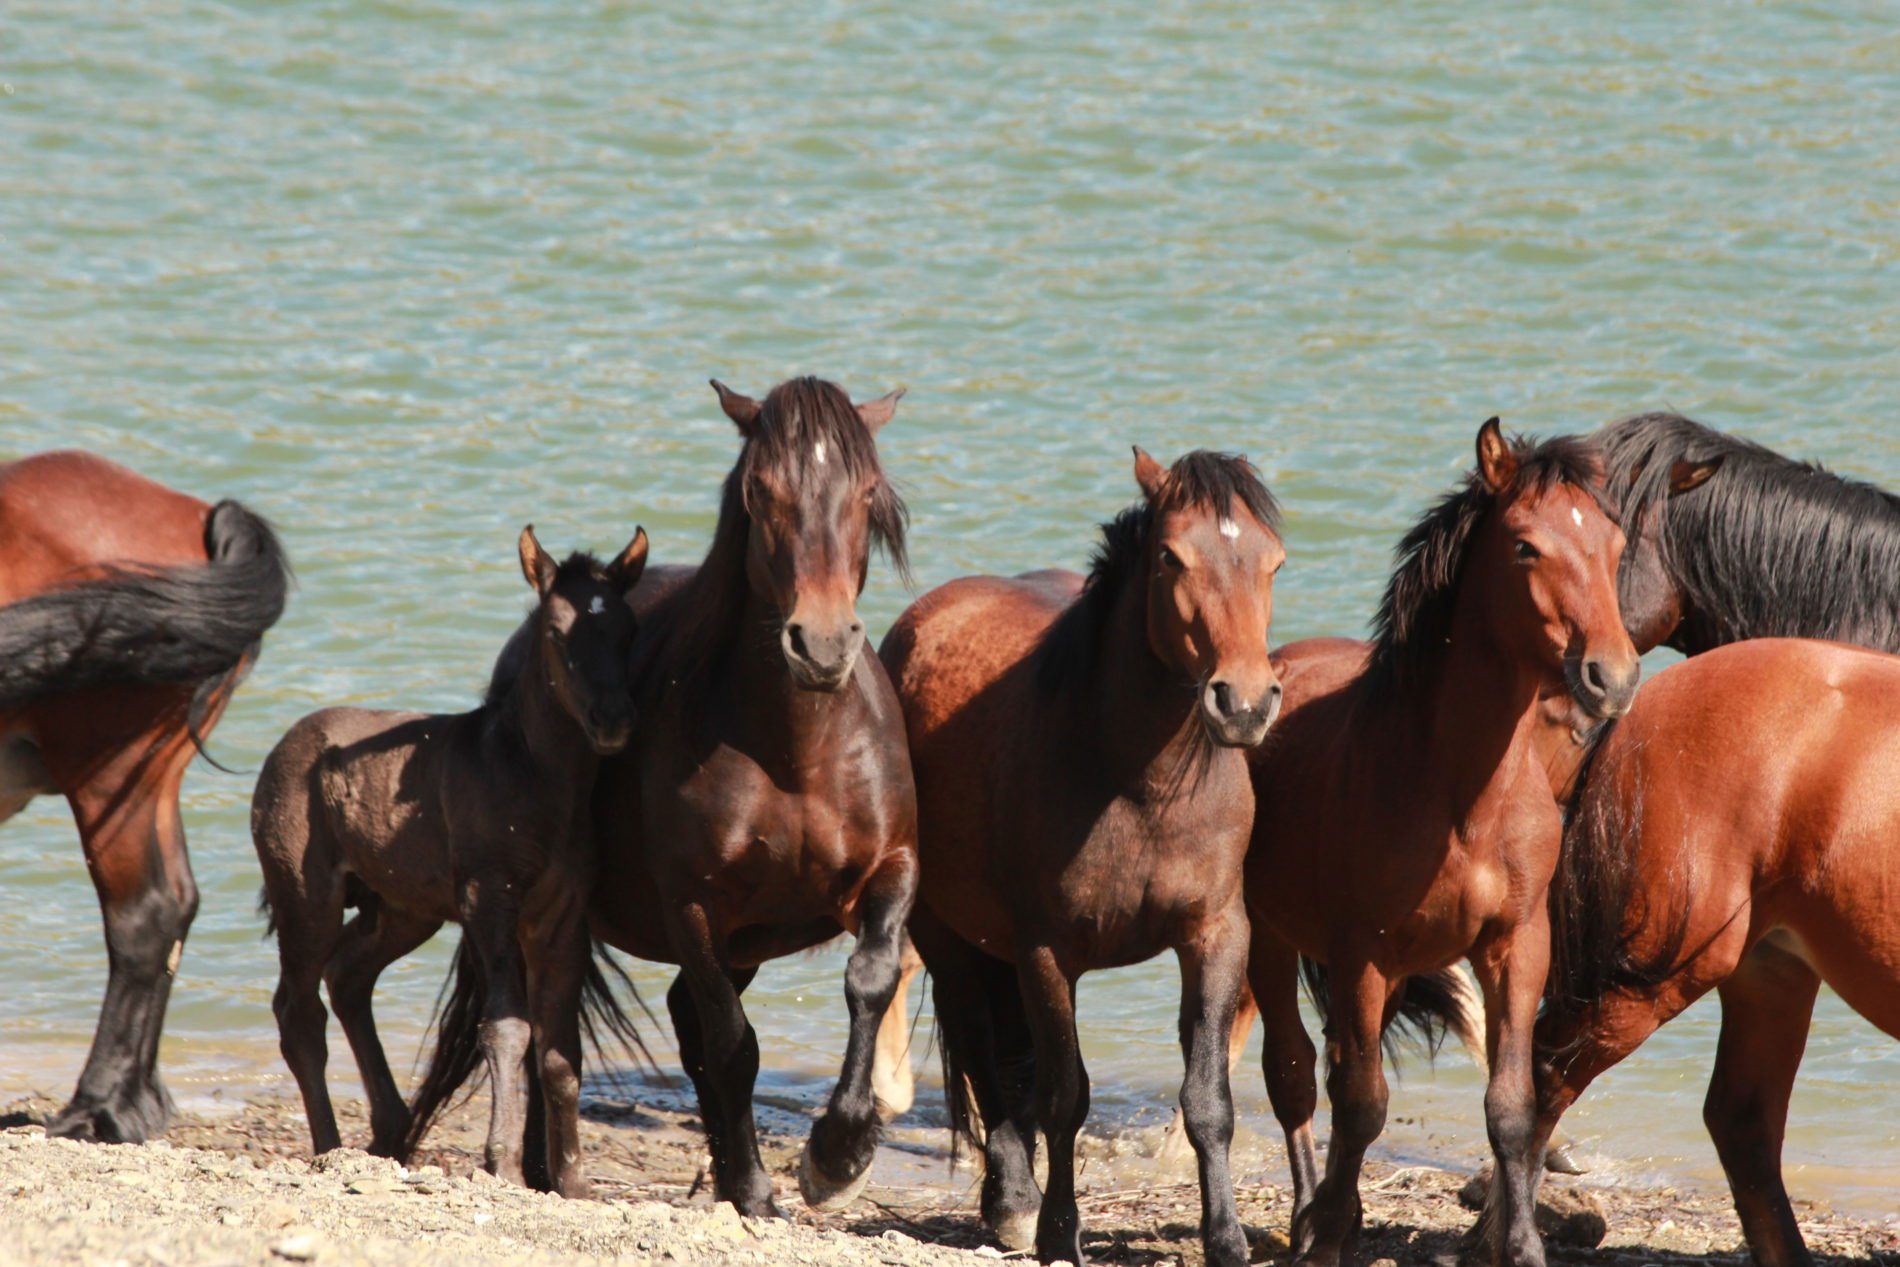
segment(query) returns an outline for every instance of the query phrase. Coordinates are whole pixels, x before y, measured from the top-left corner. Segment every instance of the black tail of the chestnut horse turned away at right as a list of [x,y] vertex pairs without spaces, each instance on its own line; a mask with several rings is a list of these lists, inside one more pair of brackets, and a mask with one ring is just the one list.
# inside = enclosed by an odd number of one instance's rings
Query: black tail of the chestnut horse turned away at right
[[[1545,980],[1545,1012],[1577,1033],[1611,992],[1647,993],[1674,976],[1689,936],[1687,902],[1651,917],[1647,902],[1672,902],[1670,895],[1638,891],[1636,842],[1642,838],[1644,798],[1640,779],[1598,773],[1596,756],[1609,741],[1598,735],[1564,823],[1564,853],[1550,881],[1550,976]],[[1640,773],[1640,764],[1632,762]],[[1638,954],[1632,933],[1651,929]],[[1657,935],[1661,931],[1661,935]]]

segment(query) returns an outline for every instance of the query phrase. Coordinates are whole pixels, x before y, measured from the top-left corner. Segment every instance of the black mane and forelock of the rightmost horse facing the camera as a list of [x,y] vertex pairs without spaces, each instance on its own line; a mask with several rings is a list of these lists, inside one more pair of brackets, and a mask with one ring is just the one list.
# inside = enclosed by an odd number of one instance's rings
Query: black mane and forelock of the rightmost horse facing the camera
[[1372,621],[1366,682],[1376,695],[1408,690],[1431,674],[1452,636],[1457,585],[1465,572],[1471,538],[1499,501],[1571,484],[1590,494],[1604,513],[1615,519],[1602,494],[1602,454],[1590,441],[1573,435],[1548,441],[1514,435],[1510,456],[1516,458],[1518,471],[1509,488],[1493,494],[1478,473],[1471,471],[1465,482],[1429,509],[1398,543],[1396,566],[1385,583],[1379,614]]

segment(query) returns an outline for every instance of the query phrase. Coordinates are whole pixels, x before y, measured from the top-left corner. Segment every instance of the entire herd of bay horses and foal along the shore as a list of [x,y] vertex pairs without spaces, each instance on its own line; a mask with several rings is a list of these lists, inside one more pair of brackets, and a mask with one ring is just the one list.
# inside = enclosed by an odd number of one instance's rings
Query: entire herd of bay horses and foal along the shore
[[[1269,652],[1288,551],[1258,471],[1136,448],[1140,498],[1087,576],[950,581],[866,653],[874,549],[906,574],[876,443],[901,393],[714,389],[741,450],[697,568],[648,568],[644,532],[555,562],[526,528],[534,608],[481,707],[325,709],[264,764],[276,1014],[317,1151],[340,1144],[327,986],[372,1151],[407,1157],[484,1071],[488,1168],[583,1195],[583,1031],[636,1039],[612,946],[678,965],[716,1197],[773,1214],[741,999],[768,959],[849,935],[806,1202],[853,1201],[908,1100],[922,965],[984,1223],[1081,1263],[1075,982],[1172,952],[1210,1263],[1248,1259],[1229,1077],[1258,1020],[1300,1263],[1355,1252],[1381,1049],[1410,1022],[1482,1049],[1474,1250],[1537,1267],[1558,1119],[1716,990],[1704,1117],[1748,1246],[1811,1261],[1780,1144],[1820,982],[1900,1035],[1900,498],[1676,414],[1543,443],[1493,418],[1398,545],[1374,636]],[[55,1134],[165,1126],[158,1035],[196,910],[179,781],[287,577],[234,501],[86,454],[0,467],[0,813],[68,798],[110,950]],[[1664,644],[1687,659],[1638,690]],[[462,942],[405,1102],[372,988],[446,921]]]

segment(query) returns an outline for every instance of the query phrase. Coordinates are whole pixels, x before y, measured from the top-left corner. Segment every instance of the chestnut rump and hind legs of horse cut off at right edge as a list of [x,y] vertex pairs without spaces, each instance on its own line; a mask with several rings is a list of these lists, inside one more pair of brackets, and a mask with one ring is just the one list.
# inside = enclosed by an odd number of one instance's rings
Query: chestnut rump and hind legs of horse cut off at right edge
[[1805,1267],[1780,1147],[1820,982],[1900,1037],[1900,657],[1763,638],[1662,671],[1564,851],[1537,1138],[1718,990],[1702,1115],[1756,1261]]

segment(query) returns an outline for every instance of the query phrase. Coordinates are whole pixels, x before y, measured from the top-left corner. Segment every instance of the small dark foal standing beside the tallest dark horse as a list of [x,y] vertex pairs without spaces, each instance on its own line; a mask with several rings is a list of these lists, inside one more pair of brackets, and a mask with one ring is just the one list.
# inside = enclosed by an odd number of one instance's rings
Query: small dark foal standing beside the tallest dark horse
[[[486,982],[479,1031],[494,1109],[490,1174],[522,1174],[528,1090],[547,1106],[555,1191],[587,1195],[580,1170],[580,1007],[591,963],[593,781],[633,729],[625,602],[646,566],[646,534],[612,562],[555,560],[522,528],[521,572],[536,593],[528,663],[473,712],[312,712],[272,748],[251,800],[264,906],[283,973],[276,1012],[314,1151],[340,1147],[323,1083],[329,984],[370,1104],[372,1153],[408,1157],[429,1126],[410,1119],[390,1075],[370,995],[386,967],[462,925],[458,963]],[[344,923],[344,908],[357,914]],[[454,1014],[452,1014],[454,1016]],[[454,1018],[443,1022],[454,1031]]]

